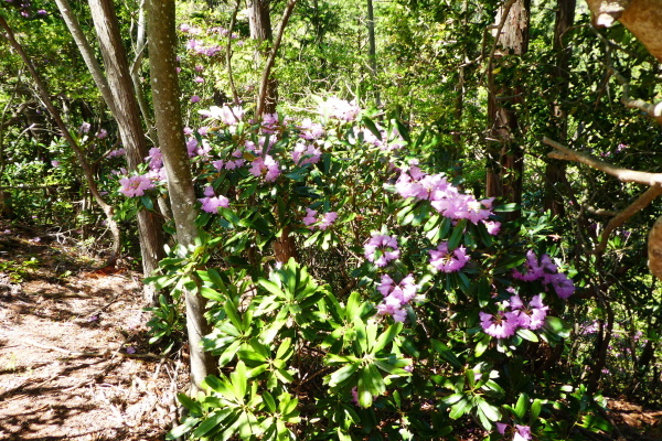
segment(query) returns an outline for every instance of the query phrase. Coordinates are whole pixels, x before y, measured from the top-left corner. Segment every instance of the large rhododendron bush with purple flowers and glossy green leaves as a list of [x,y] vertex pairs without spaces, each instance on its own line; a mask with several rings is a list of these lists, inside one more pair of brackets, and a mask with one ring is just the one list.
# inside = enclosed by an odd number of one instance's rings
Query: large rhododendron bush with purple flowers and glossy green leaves
[[[151,280],[210,300],[220,373],[180,397],[171,438],[563,439],[599,420],[564,410],[580,397],[555,380],[563,261],[429,170],[425,135],[338,98],[299,119],[201,114],[188,148],[204,239]],[[164,192],[159,158],[119,191]]]

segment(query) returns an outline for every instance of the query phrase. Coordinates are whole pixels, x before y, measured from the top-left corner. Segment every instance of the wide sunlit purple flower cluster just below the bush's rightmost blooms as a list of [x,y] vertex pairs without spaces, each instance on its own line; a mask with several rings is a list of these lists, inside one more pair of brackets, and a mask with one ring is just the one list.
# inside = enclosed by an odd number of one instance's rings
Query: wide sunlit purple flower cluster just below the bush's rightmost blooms
[[505,302],[510,311],[499,311],[495,314],[480,312],[480,325],[485,334],[495,338],[508,338],[515,335],[519,329],[537,330],[545,324],[549,306],[543,304],[541,295],[534,295],[528,304],[524,304],[515,294]]

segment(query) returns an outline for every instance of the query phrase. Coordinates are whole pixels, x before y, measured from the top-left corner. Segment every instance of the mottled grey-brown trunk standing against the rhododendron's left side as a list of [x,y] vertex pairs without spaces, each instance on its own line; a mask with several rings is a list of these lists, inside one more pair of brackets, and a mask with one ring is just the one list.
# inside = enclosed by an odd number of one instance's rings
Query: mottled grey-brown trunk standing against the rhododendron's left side
[[[148,0],[147,33],[157,136],[168,175],[168,193],[178,241],[189,247],[199,237],[195,226],[197,211],[175,71],[174,0]],[[202,380],[216,373],[216,366],[212,355],[202,348],[202,337],[212,331],[203,315],[206,302],[197,292],[186,291],[185,303],[191,392],[195,394],[201,389]]]

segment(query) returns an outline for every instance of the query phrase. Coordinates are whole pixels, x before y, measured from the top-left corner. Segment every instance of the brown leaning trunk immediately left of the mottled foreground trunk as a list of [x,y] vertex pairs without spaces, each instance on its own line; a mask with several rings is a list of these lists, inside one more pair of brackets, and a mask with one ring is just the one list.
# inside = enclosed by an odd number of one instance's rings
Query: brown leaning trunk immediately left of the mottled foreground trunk
[[[129,171],[136,171],[138,165],[149,154],[140,110],[136,99],[136,90],[131,82],[127,52],[122,45],[119,23],[111,0],[89,0],[92,19],[102,49],[106,66],[108,85],[115,103],[114,117],[119,128],[119,136],[126,150]],[[150,276],[158,267],[159,260],[166,257],[163,245],[163,218],[147,209],[138,211],[138,233],[142,255],[142,270]],[[156,292],[150,286],[145,287],[145,298],[154,303]]]

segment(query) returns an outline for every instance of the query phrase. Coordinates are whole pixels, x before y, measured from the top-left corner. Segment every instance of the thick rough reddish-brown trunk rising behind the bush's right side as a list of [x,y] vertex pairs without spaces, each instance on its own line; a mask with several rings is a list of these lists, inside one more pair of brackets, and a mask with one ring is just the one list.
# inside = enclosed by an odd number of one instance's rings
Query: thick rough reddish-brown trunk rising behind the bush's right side
[[[515,108],[524,104],[524,89],[516,77],[498,79],[494,69],[508,68],[509,56],[521,56],[528,49],[530,0],[515,0],[506,3],[498,17],[502,23],[495,36],[499,54],[494,54],[488,67],[489,97],[488,121],[489,141],[488,175],[485,193],[488,197],[499,197],[502,202],[522,202],[522,173],[524,151],[519,143],[521,132]],[[501,24],[500,24],[501,28]],[[520,211],[510,213],[509,219],[520,217]]]

